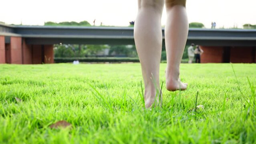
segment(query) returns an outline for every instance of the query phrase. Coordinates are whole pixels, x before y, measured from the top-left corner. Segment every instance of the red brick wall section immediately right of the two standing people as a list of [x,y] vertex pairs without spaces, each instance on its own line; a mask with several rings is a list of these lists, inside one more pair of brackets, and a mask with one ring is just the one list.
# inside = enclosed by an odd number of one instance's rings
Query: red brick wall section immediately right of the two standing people
[[222,63],[223,47],[200,46],[204,53],[201,55],[201,63]]

